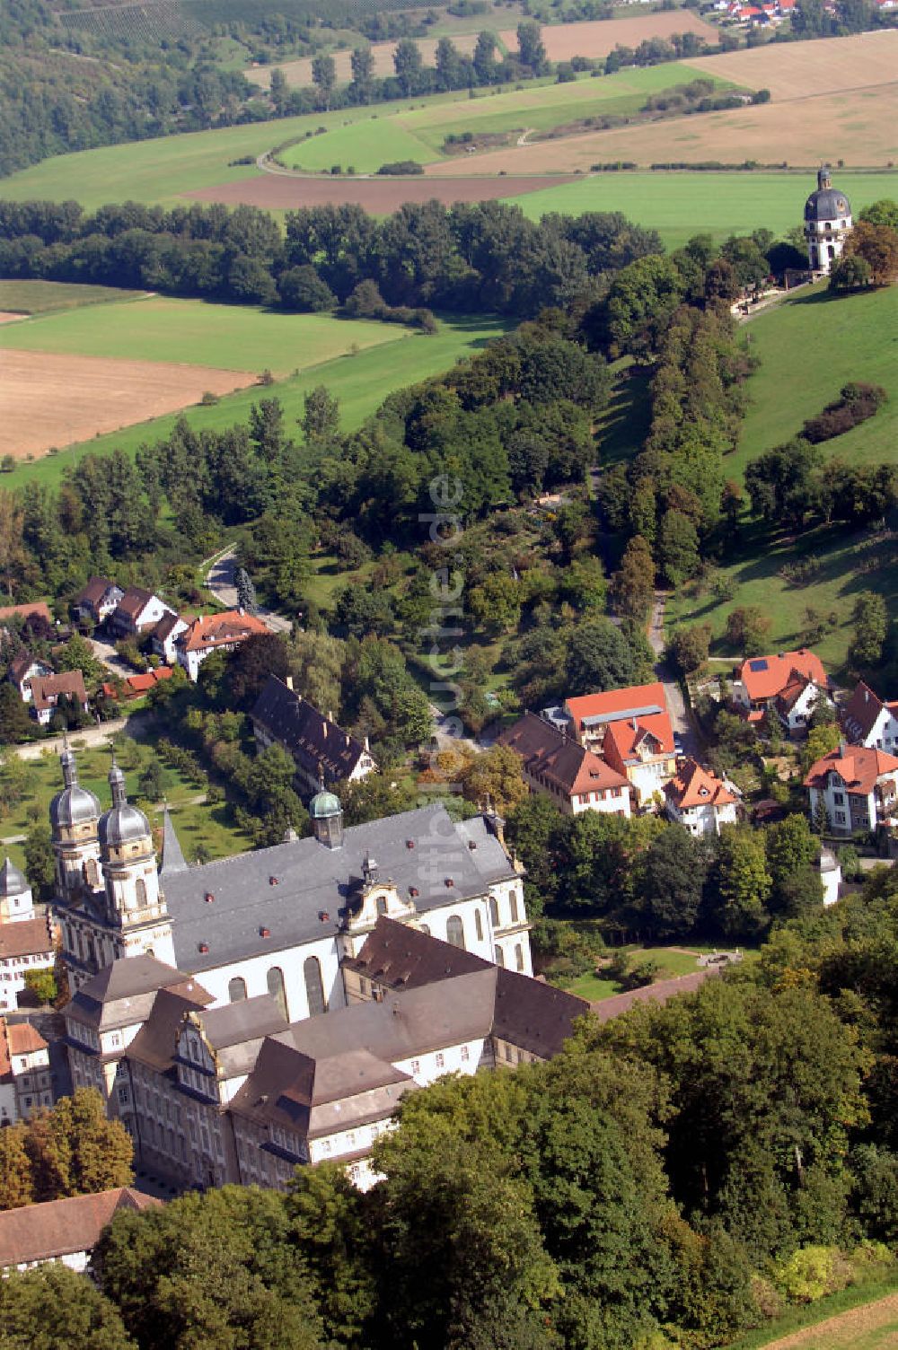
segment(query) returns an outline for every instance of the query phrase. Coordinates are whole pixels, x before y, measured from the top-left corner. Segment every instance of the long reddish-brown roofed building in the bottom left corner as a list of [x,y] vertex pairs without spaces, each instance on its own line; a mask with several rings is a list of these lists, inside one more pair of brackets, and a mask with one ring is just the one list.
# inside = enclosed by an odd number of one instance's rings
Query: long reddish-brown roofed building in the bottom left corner
[[5,1210],[0,1214],[0,1270],[28,1270],[59,1261],[81,1273],[113,1215],[158,1204],[162,1202],[155,1196],[126,1185]]

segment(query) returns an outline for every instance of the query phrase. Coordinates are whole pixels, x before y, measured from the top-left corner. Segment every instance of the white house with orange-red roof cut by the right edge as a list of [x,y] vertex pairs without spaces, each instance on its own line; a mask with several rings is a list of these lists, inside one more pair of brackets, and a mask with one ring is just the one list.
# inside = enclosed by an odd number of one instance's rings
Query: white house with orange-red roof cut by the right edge
[[805,778],[812,818],[826,811],[833,834],[898,824],[898,759],[866,745],[830,751]]

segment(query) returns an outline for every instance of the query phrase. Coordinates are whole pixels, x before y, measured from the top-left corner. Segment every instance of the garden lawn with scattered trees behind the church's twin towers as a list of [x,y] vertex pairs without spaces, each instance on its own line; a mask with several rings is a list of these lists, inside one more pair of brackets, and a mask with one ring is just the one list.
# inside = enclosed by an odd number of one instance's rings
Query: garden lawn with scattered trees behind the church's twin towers
[[[78,749],[77,733],[72,737],[78,760],[78,782],[89,788],[100,801],[101,806],[109,805],[109,752],[105,748]],[[140,745],[140,765],[126,771],[126,786],[131,801],[139,798],[138,778],[143,765],[153,756],[150,745]],[[53,752],[46,752],[41,759],[22,760],[26,770],[24,796],[8,815],[0,818],[0,838],[9,838],[16,834],[27,834],[35,819],[46,822],[50,798],[62,787],[62,771],[59,760]],[[189,783],[177,770],[165,767],[162,770],[163,788],[171,809],[181,846],[188,860],[192,859],[197,844],[203,844],[212,857],[227,857],[231,853],[242,853],[251,848],[250,838],[239,830],[230,819],[230,807],[221,802],[217,806],[207,806],[196,802],[203,791]],[[142,803],[150,815],[150,821],[157,830],[162,826],[162,807]],[[16,865],[24,864],[22,844],[3,844],[3,853],[8,853]]]

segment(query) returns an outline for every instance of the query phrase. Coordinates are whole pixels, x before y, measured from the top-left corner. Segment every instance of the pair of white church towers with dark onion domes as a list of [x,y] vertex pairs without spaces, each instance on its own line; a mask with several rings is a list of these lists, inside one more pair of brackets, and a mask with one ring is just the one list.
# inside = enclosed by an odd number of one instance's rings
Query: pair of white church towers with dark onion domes
[[174,965],[171,923],[159,886],[153,832],[128,803],[112,761],[112,806],[78,783],[74,753],[59,756],[65,787],[50,803],[57,917],[69,984],[76,988],[124,956],[147,953]]

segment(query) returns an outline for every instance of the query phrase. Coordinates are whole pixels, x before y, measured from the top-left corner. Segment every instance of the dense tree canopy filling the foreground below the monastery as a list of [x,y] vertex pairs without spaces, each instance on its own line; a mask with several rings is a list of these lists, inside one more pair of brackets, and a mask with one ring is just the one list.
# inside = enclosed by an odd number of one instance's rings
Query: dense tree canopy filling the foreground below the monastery
[[336,1165],[122,1214],[0,1285],[45,1350],[706,1350],[894,1278],[898,891],[880,868],[697,994],[550,1064],[406,1096],[366,1195]]

